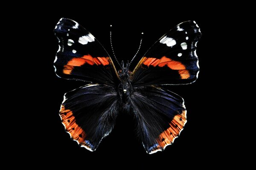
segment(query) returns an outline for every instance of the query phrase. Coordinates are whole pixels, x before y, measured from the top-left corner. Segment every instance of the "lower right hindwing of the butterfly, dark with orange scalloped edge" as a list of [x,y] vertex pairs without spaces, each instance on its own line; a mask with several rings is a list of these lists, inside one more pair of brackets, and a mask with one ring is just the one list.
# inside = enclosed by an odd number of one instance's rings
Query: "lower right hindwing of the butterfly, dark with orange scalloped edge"
[[171,91],[155,86],[137,88],[131,103],[137,130],[149,154],[172,144],[186,124],[184,100]]

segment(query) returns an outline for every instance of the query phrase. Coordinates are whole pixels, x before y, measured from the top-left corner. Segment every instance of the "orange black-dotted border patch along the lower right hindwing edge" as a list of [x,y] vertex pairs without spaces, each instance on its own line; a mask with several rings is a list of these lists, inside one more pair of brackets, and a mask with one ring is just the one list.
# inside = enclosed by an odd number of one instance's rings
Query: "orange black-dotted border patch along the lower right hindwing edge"
[[181,114],[174,116],[172,121],[169,123],[170,127],[159,135],[159,139],[157,139],[157,143],[159,145],[157,148],[163,148],[166,146],[166,144],[171,144],[174,141],[175,137],[179,135],[185,123],[186,111],[183,111]]

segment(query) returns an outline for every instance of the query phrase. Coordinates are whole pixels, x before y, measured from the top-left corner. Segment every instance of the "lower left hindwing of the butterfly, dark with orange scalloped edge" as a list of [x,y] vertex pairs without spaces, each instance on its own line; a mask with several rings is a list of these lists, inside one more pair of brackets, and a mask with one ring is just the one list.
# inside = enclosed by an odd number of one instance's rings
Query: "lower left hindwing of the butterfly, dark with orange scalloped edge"
[[96,150],[115,123],[118,98],[108,85],[85,85],[64,95],[60,116],[66,131],[81,147]]

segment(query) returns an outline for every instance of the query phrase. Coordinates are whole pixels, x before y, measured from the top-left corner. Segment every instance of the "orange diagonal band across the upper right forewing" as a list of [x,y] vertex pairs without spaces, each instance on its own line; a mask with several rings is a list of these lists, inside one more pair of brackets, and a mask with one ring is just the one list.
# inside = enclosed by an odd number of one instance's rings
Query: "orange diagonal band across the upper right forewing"
[[179,61],[174,61],[172,59],[169,59],[165,56],[163,56],[160,59],[156,59],[156,58],[147,58],[144,57],[144,65],[147,65],[148,67],[150,65],[156,67],[163,67],[165,65],[167,65],[169,68],[171,68],[172,70],[178,70],[178,73],[180,74],[181,79],[188,79],[190,77],[189,71],[186,70],[185,65],[183,65],[181,62]]

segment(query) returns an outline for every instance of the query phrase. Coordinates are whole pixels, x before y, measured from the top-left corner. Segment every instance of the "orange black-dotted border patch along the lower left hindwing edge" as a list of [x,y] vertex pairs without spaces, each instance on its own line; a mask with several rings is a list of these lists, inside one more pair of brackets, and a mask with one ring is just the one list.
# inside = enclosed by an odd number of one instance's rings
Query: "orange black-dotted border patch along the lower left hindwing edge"
[[76,124],[73,112],[66,110],[64,105],[61,105],[60,116],[62,123],[65,125],[65,128],[70,133],[71,137],[77,140],[80,144],[83,144],[86,134],[84,130]]

